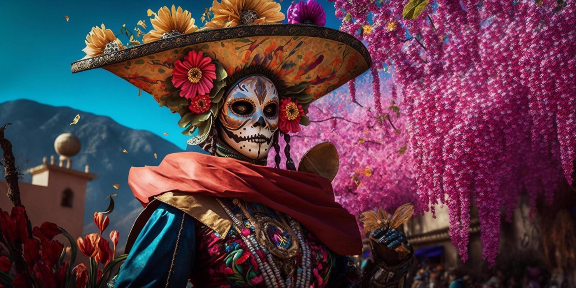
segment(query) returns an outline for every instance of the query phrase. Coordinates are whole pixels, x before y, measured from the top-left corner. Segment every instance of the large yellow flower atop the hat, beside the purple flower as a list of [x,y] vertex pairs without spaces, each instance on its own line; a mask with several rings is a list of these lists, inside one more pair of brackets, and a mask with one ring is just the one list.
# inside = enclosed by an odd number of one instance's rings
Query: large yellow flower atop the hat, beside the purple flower
[[284,20],[280,3],[272,0],[222,0],[212,3],[214,17],[203,28],[271,24]]

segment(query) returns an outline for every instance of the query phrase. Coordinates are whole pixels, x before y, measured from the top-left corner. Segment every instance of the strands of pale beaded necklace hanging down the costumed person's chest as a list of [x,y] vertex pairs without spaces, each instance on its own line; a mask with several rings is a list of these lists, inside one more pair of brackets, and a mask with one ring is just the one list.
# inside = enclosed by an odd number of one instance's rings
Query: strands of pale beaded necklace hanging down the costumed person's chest
[[[242,241],[244,241],[244,243],[248,247],[250,253],[252,254],[252,256],[254,256],[254,259],[256,260],[256,263],[258,265],[258,269],[260,270],[260,273],[262,274],[262,278],[264,279],[264,283],[266,283],[266,286],[268,286],[268,287],[282,287],[282,288],[307,288],[310,286],[310,275],[312,272],[312,268],[311,268],[312,263],[310,261],[310,248],[308,247],[308,244],[306,244],[306,242],[304,241],[304,236],[302,236],[302,229],[300,228],[300,224],[298,224],[298,222],[296,222],[294,219],[292,219],[288,215],[286,215],[286,218],[289,219],[289,221],[288,221],[289,225],[286,225],[286,226],[288,226],[288,229],[291,229],[287,232],[290,233],[291,235],[295,235],[295,237],[298,240],[297,244],[300,244],[300,245],[296,245],[296,243],[293,243],[291,246],[292,247],[295,246],[294,249],[297,249],[297,251],[299,251],[302,255],[301,267],[296,268],[296,271],[295,271],[296,275],[295,276],[294,276],[293,270],[289,271],[289,270],[283,269],[283,271],[286,274],[286,279],[283,279],[282,275],[281,275],[281,269],[278,267],[278,265],[276,265],[274,257],[278,254],[281,255],[280,258],[290,257],[290,255],[293,254],[293,251],[288,250],[288,252],[283,252],[283,253],[279,253],[278,251],[274,251],[274,253],[271,253],[270,250],[266,248],[267,246],[270,247],[270,245],[268,245],[267,243],[264,242],[264,238],[259,237],[260,241],[258,241],[256,239],[256,234],[261,234],[261,233],[258,233],[258,232],[252,233],[251,230],[249,230],[249,229],[241,229],[241,227],[244,227],[244,222],[241,219],[238,219],[236,214],[234,214],[232,212],[232,210],[230,210],[230,208],[226,204],[222,203],[222,201],[219,198],[216,198],[216,200],[218,201],[220,206],[222,206],[222,209],[224,209],[224,211],[226,211],[226,214],[228,214],[228,216],[232,219],[232,222],[234,222],[234,225],[233,225],[234,229],[236,229],[238,234],[240,234]],[[240,203],[240,201],[238,199],[234,199],[232,201],[232,203],[235,204],[236,206],[240,207],[242,214],[244,214],[244,217],[248,219],[248,221],[251,223],[252,226],[254,226],[255,228],[258,228],[258,229],[262,229],[261,226],[264,226],[264,228],[266,229],[266,223],[264,225],[261,225],[261,223],[258,223],[257,221],[255,221],[255,219],[253,219],[251,217],[251,215],[248,213],[248,211],[245,209],[245,207],[242,205],[242,203]],[[282,218],[282,215],[280,215],[279,213],[278,213],[278,215],[279,215],[279,217],[281,217],[282,222],[284,224],[287,224],[285,219]],[[278,224],[279,224],[279,222],[278,222]],[[278,226],[281,226],[281,225],[278,225]],[[283,228],[286,228],[286,227],[283,227]],[[264,233],[266,233],[266,232],[264,232]],[[266,259],[261,259],[260,256],[258,255],[257,251],[261,251],[262,253],[264,253],[264,255],[266,255]],[[276,257],[278,257],[278,256],[276,256]],[[291,260],[295,260],[294,257],[295,256],[293,255],[291,257],[291,259],[281,259],[281,260],[283,263],[290,263],[290,262],[293,262]],[[284,264],[283,267],[285,267],[285,265],[286,264]]]

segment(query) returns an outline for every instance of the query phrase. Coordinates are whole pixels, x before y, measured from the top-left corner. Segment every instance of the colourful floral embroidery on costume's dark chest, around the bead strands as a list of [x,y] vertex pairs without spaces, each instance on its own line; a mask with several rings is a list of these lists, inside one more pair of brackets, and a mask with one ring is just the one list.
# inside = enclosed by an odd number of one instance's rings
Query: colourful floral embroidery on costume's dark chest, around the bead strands
[[[229,201],[234,214],[241,215],[242,211]],[[271,239],[273,245],[278,249],[291,247],[289,233],[282,228],[282,225],[271,223],[281,223],[282,219],[272,209],[251,202],[242,202],[248,213],[255,219],[270,223],[266,226],[266,235]],[[255,227],[246,220],[244,229],[249,233],[255,233]],[[317,238],[307,230],[304,230],[306,242],[309,245],[312,261],[312,275],[310,275],[313,287],[324,287],[332,269],[331,252]],[[264,287],[264,279],[258,270],[255,257],[249,253],[248,247],[241,240],[237,230],[232,228],[228,235],[222,239],[217,233],[204,225],[196,226],[196,241],[198,244],[194,271],[192,271],[192,283],[198,287]],[[258,254],[260,259],[264,259],[263,254]],[[293,257],[296,263],[294,267],[300,266],[301,255],[298,252]],[[209,276],[207,276],[209,275]]]

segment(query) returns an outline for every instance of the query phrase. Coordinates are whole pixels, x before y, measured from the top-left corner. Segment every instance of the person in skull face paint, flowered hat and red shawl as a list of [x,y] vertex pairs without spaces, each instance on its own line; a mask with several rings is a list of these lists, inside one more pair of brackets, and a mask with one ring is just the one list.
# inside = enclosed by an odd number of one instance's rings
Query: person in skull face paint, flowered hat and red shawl
[[[361,274],[356,219],[334,200],[338,154],[321,143],[290,157],[290,133],[308,105],[366,71],[370,55],[324,28],[313,0],[293,3],[289,24],[271,0],[214,1],[203,28],[190,12],[162,7],[144,43],[124,47],[95,27],[73,72],[103,67],[179,113],[188,144],[210,153],[169,154],[132,168],[146,208],[128,236],[115,287],[403,287],[412,249],[404,234],[370,235],[374,265]],[[278,141],[286,142],[282,161]],[[267,167],[275,149],[276,167]],[[407,247],[409,253],[396,252]]]

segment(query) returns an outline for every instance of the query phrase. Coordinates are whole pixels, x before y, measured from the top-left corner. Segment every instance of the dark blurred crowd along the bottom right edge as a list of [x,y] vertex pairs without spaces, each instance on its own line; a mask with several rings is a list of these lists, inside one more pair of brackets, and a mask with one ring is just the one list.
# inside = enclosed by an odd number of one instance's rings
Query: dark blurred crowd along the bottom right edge
[[408,275],[411,288],[569,288],[569,279],[554,276],[539,266],[526,266],[524,271],[494,269],[491,274],[445,268],[442,265],[418,263]]

